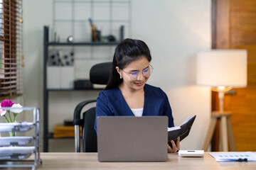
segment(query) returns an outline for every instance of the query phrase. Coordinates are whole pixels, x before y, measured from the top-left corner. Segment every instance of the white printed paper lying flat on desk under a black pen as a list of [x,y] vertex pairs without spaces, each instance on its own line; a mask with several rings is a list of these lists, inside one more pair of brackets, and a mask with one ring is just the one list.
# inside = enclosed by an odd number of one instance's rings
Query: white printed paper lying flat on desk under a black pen
[[248,162],[256,162],[256,152],[212,152],[209,153],[216,162],[233,162],[238,159],[247,159]]

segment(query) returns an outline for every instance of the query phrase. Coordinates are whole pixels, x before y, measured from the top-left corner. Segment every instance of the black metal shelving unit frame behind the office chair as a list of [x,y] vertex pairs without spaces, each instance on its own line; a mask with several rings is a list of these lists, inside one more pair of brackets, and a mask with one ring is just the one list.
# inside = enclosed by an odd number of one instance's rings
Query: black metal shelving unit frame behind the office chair
[[[117,45],[119,42],[49,42],[49,28],[44,26],[43,29],[44,42],[43,42],[43,152],[48,152],[48,140],[53,139],[53,133],[48,131],[48,94],[51,91],[81,91],[77,89],[48,89],[47,88],[47,60],[48,60],[48,47],[50,46],[104,46],[104,45]],[[124,26],[120,27],[120,38],[124,38]],[[87,90],[101,90],[101,89],[87,89]],[[74,108],[75,109],[75,108]],[[70,113],[72,114],[72,113]]]

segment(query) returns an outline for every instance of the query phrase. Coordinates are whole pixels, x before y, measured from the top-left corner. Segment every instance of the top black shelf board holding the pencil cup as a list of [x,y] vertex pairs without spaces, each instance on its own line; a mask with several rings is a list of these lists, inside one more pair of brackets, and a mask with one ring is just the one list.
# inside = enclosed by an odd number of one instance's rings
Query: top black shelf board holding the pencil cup
[[61,45],[118,45],[118,41],[114,42],[48,42],[46,45],[55,45],[55,46],[61,46]]

